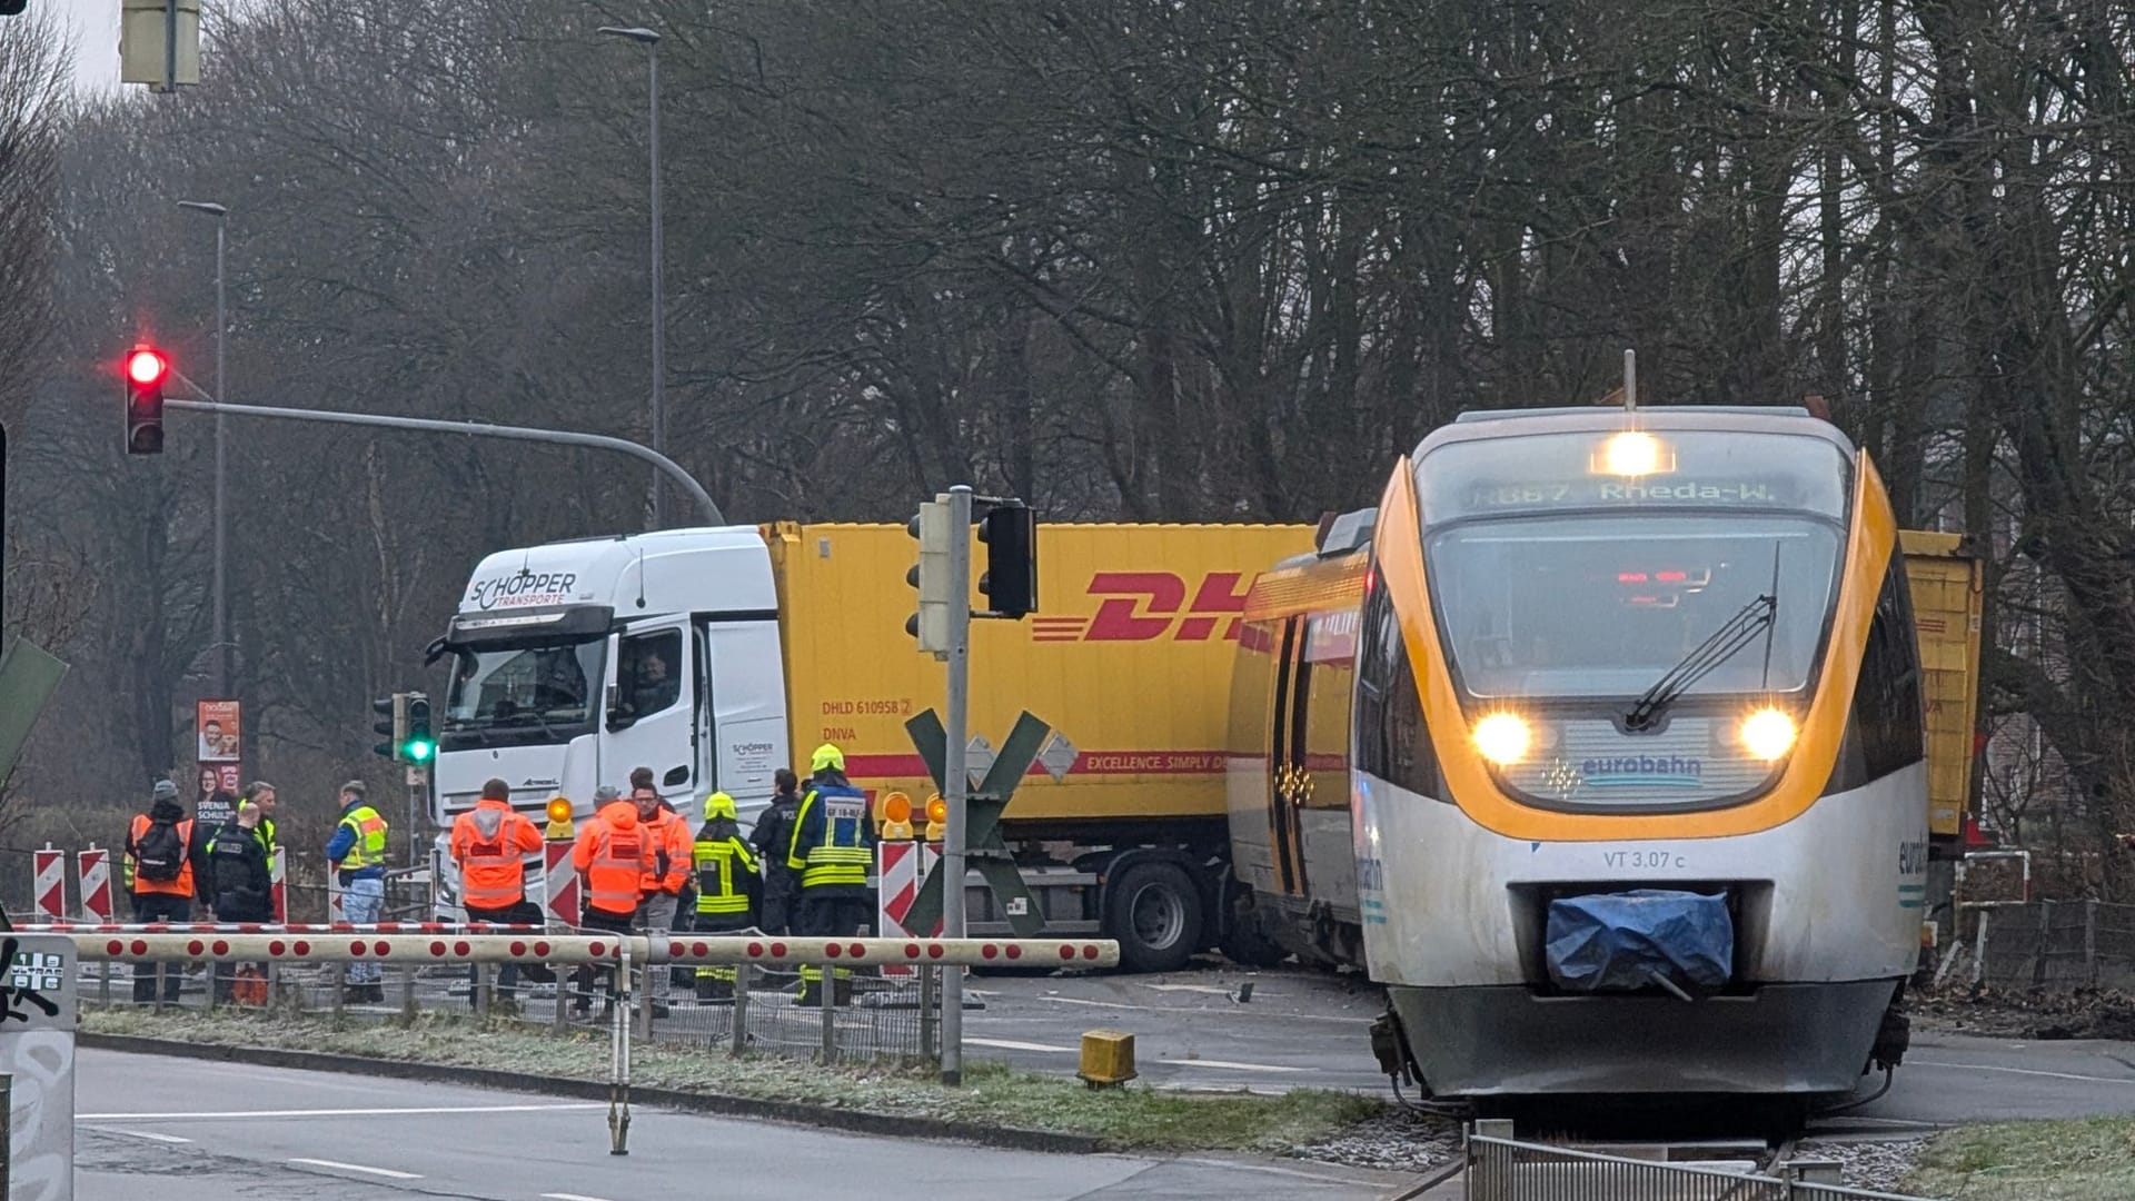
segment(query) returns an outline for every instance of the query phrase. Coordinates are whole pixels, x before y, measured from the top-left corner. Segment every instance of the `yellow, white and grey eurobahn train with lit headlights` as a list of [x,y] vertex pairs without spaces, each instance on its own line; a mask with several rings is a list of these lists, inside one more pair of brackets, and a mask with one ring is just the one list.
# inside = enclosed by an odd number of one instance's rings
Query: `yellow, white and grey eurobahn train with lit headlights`
[[1247,600],[1234,872],[1437,1096],[1896,1064],[1926,778],[1892,502],[1800,408],[1465,415]]

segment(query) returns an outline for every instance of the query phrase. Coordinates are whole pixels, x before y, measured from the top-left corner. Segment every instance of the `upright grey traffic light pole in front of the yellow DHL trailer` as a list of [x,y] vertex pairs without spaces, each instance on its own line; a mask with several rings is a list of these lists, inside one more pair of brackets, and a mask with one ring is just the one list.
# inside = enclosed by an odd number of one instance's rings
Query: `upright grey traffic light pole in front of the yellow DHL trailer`
[[[971,776],[965,769],[971,699],[971,487],[948,489],[948,697],[942,744],[942,801],[948,829],[942,836],[942,938],[963,938],[965,829],[969,827]],[[942,1083],[963,1083],[963,968],[942,968]]]

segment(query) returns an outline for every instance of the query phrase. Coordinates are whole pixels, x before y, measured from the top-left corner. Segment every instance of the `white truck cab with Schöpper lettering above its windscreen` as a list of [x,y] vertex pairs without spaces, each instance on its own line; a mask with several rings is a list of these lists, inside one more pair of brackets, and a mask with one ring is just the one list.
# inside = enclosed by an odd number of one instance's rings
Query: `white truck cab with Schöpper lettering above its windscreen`
[[491,778],[517,810],[538,816],[562,795],[583,821],[596,789],[628,793],[634,767],[651,767],[692,821],[726,791],[749,823],[790,761],[777,592],[756,526],[493,553],[429,658],[453,671],[436,716],[440,829]]

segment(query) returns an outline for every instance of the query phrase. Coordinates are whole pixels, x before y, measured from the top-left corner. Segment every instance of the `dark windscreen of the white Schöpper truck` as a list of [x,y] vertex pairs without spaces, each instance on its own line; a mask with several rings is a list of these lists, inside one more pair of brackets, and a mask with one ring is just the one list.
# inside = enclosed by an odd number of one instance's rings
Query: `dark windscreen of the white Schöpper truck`
[[510,650],[455,648],[444,735],[510,731],[564,742],[594,727],[606,639]]

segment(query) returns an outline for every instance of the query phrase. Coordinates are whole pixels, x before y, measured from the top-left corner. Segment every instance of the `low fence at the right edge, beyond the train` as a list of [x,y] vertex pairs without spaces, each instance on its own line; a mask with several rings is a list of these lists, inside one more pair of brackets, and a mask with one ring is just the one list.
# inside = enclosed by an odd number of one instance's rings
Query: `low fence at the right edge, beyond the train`
[[2099,900],[1962,908],[1936,983],[2135,989],[2135,906]]

